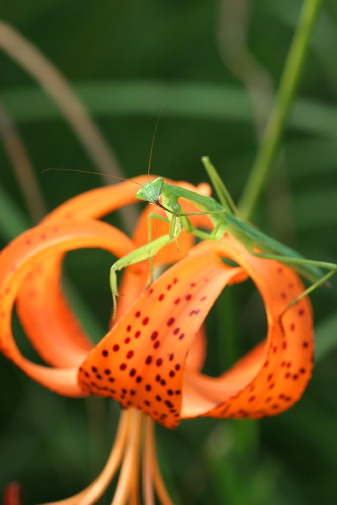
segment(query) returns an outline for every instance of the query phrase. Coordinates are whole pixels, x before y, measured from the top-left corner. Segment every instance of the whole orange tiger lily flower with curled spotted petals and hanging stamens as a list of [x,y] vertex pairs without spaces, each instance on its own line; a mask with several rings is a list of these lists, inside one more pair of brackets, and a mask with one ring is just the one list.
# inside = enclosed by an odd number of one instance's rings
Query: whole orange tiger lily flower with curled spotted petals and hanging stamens
[[[143,184],[147,178],[135,180]],[[186,183],[184,187],[191,188]],[[209,188],[200,185],[194,190],[207,194]],[[229,236],[193,246],[192,237],[182,233],[180,252],[170,244],[156,256],[155,266],[174,264],[148,289],[147,263],[126,269],[115,324],[92,346],[61,292],[62,259],[65,252],[83,247],[104,248],[120,257],[146,243],[148,208],[132,238],[98,220],[135,201],[134,193],[128,182],[84,193],[60,206],[0,255],[4,354],[59,394],[110,397],[126,409],[106,467],[88,488],[63,500],[65,505],[94,503],[117,471],[123,453],[113,504],[125,503],[128,496],[136,500],[143,429],[145,502],[153,503],[154,484],[161,503],[171,503],[156,460],[151,418],[175,428],[181,419],[198,416],[254,419],[275,415],[301,397],[311,376],[309,299],[301,299],[280,321],[288,303],[304,289],[297,274],[275,261],[250,255]],[[197,225],[208,226],[206,216],[193,219]],[[167,233],[167,225],[155,220],[152,231],[153,238],[161,236]],[[230,267],[222,258],[238,266]],[[267,336],[223,375],[208,377],[200,372],[205,357],[202,324],[224,287],[247,277],[263,299]],[[11,332],[15,301],[31,343],[51,366],[30,362],[17,348]]]

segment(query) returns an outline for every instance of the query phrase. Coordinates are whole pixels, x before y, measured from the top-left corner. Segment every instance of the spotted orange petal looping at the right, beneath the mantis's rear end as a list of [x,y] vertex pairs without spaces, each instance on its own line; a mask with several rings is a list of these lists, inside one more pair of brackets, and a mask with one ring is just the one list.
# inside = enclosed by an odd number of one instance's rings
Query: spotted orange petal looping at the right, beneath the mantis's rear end
[[201,244],[246,270],[265,304],[268,334],[219,378],[185,373],[181,416],[260,418],[288,409],[302,395],[313,367],[314,333],[308,297],[280,314],[304,291],[297,274],[273,260],[250,255],[233,239]]

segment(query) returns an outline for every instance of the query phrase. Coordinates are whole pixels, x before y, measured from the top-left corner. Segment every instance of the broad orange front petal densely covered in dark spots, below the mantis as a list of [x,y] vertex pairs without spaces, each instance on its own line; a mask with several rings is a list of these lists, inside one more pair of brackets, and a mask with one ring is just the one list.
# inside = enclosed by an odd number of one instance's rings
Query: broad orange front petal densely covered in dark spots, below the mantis
[[90,352],[79,372],[87,391],[134,406],[167,427],[180,420],[186,358],[215,299],[241,268],[208,249],[162,274]]

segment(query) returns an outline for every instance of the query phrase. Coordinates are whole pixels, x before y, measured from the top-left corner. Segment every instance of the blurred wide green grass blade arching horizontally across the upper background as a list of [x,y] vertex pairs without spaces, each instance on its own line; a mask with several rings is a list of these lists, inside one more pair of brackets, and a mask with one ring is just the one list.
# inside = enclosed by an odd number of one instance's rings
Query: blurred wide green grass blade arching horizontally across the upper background
[[[243,88],[235,86],[116,80],[78,82],[73,84],[73,88],[95,116],[156,117],[165,101],[162,116],[166,117],[252,122],[248,95]],[[33,86],[3,91],[0,100],[12,119],[19,123],[50,121],[61,117],[60,111],[43,91]],[[335,137],[337,108],[298,98],[287,127]]]

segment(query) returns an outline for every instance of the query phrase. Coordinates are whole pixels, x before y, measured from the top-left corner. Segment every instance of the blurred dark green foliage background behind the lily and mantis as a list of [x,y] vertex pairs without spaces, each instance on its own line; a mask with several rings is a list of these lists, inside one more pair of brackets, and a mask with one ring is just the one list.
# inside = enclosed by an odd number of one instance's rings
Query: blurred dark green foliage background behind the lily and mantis
[[[205,180],[208,154],[237,201],[258,149],[300,0],[2,0],[0,18],[33,42],[69,80],[113,149],[125,177],[146,172],[156,116],[165,102],[152,172]],[[248,52],[249,51],[249,52]],[[279,156],[254,223],[306,257],[336,261],[337,4],[323,3]],[[63,114],[0,50],[0,105],[28,151],[32,196],[0,142],[0,244],[33,225],[26,199],[47,211],[103,178],[46,168],[99,170]],[[25,188],[20,189],[20,182]],[[107,182],[107,181],[105,181]],[[109,181],[108,181],[109,182]],[[34,205],[33,205],[34,207]],[[36,217],[35,217],[36,219]],[[122,225],[120,216],[110,222]],[[132,223],[127,223],[132,229]],[[107,327],[112,258],[72,252],[69,293],[94,340]],[[290,411],[260,422],[184,421],[157,428],[164,480],[179,504],[332,503],[337,473],[337,281],[312,295],[314,375]],[[226,311],[224,314],[223,306]],[[13,323],[20,348],[38,360]],[[208,327],[205,372],[217,375],[264,337],[265,315],[250,283],[221,295]],[[79,491],[103,467],[119,408],[42,389],[2,356],[0,487],[18,480],[26,503]],[[109,503],[113,486],[102,503]]]

